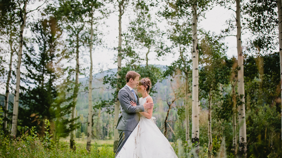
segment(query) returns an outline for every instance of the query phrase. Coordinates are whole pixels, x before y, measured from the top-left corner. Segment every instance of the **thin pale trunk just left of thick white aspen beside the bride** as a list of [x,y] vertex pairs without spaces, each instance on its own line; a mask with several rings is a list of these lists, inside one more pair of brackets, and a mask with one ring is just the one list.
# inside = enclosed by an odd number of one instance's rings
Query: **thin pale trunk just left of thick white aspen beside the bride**
[[187,143],[190,141],[190,122],[189,122],[189,104],[188,104],[188,74],[185,74],[185,121],[186,121],[186,136]]

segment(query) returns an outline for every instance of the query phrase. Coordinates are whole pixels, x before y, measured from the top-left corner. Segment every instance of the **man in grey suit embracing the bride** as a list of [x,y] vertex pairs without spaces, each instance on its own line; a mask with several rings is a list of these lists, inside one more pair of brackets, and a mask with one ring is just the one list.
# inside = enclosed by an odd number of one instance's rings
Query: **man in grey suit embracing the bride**
[[[121,105],[121,114],[118,116],[118,129],[119,143],[116,155],[123,147],[124,143],[128,139],[131,132],[137,126],[139,122],[139,113],[144,112],[144,109],[153,109],[154,104],[148,103],[148,100],[144,105],[139,105],[139,97],[133,88],[136,88],[139,77],[141,77],[135,71],[129,71],[126,74],[126,85],[118,92],[118,100]],[[138,106],[132,106],[130,101],[136,102]]]

